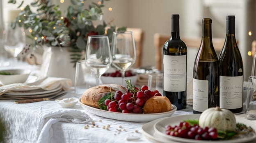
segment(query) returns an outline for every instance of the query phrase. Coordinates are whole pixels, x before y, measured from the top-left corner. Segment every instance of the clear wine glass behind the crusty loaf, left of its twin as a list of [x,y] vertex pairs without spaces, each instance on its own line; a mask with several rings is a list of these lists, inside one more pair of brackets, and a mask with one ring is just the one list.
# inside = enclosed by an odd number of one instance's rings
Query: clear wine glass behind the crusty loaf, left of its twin
[[109,69],[112,62],[110,44],[107,36],[88,36],[85,63],[96,75],[99,85],[101,75]]

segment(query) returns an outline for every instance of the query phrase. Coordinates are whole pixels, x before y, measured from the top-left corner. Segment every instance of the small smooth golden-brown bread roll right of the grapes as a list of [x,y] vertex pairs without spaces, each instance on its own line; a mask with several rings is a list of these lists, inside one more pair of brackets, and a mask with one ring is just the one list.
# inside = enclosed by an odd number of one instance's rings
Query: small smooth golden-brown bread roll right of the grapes
[[153,96],[146,101],[144,113],[160,113],[171,111],[171,102],[165,96]]

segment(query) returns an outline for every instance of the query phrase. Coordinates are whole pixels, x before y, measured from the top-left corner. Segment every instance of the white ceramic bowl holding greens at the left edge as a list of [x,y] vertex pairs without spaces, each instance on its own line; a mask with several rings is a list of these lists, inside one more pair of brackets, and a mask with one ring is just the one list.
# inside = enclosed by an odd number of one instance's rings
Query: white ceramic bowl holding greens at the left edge
[[30,69],[8,69],[0,70],[1,72],[7,72],[11,75],[0,74],[0,82],[4,85],[9,85],[11,83],[24,83],[27,77],[30,75]]

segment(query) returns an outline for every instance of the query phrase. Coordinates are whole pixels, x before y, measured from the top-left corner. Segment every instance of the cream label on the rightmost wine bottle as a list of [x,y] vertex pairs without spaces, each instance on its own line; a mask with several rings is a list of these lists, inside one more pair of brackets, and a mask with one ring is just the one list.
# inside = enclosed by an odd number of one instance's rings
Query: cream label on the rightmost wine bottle
[[243,76],[220,76],[220,107],[236,109],[242,107]]

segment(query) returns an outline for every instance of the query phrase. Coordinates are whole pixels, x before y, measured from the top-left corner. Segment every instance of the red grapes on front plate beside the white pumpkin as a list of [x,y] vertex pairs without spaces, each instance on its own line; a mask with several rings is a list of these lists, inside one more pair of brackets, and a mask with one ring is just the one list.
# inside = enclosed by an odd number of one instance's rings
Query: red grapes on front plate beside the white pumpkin
[[178,126],[165,126],[165,134],[187,139],[196,140],[215,140],[217,139],[217,130],[214,127],[200,127],[199,125],[189,125],[187,122],[181,122]]

